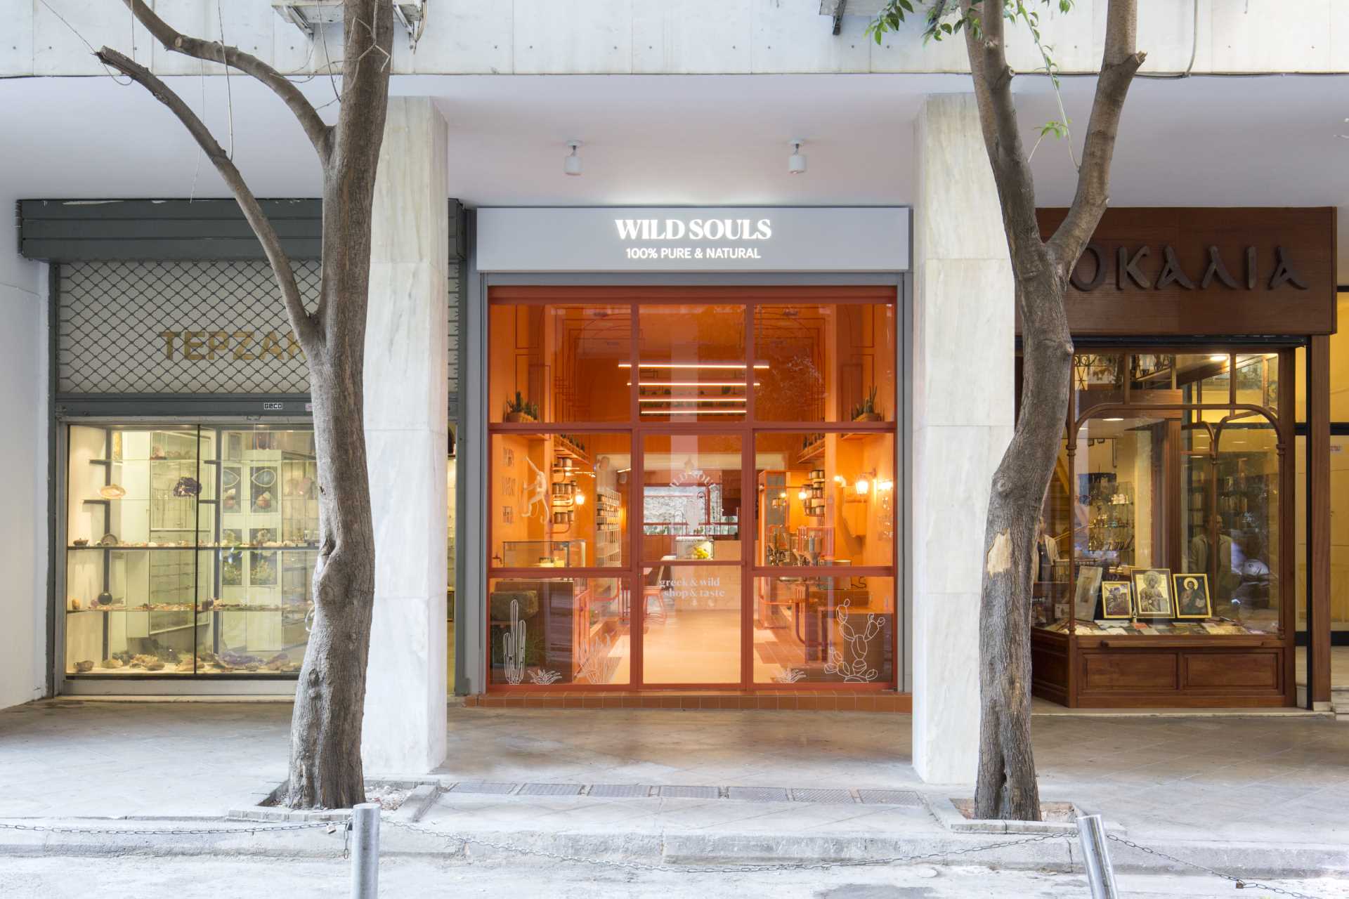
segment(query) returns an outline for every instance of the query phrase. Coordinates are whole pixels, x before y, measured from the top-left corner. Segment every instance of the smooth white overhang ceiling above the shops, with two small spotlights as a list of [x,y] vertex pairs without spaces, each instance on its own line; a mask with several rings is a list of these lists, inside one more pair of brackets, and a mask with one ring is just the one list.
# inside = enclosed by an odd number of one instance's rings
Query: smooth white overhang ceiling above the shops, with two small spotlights
[[[173,78],[264,197],[318,194],[313,154],[286,109],[244,77]],[[449,193],[469,205],[908,204],[912,121],[927,93],[965,75],[468,75],[401,77],[394,93],[433,96],[449,121]],[[1091,78],[1064,81],[1085,129]],[[332,86],[305,89],[318,102]],[[1018,78],[1028,143],[1056,119],[1044,78]],[[205,94],[204,94],[205,92]],[[1349,77],[1197,77],[1135,84],[1112,202],[1333,205],[1349,212]],[[328,106],[325,115],[336,112]],[[108,78],[0,81],[0,199],[221,197],[224,186],[181,125],[138,86]],[[585,174],[561,173],[568,139]],[[786,173],[804,137],[809,171]],[[1060,142],[1033,158],[1041,205],[1071,199]],[[1349,224],[1340,229],[1349,280]]]

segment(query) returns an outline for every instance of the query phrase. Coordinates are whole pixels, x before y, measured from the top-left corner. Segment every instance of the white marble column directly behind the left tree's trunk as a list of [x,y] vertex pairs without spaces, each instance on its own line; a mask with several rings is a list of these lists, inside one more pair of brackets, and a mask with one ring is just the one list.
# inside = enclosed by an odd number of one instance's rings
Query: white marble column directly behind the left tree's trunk
[[375,181],[366,443],[375,515],[366,774],[422,774],[445,759],[448,446],[445,120],[394,97]]

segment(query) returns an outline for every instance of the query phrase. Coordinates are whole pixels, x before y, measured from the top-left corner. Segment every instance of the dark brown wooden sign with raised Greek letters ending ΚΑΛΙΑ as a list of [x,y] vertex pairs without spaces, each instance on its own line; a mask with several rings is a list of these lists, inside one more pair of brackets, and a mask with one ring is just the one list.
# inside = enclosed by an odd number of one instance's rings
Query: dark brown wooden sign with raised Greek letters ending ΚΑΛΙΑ
[[[1041,209],[1054,233],[1066,210]],[[1074,336],[1336,330],[1334,208],[1109,209],[1070,276]]]

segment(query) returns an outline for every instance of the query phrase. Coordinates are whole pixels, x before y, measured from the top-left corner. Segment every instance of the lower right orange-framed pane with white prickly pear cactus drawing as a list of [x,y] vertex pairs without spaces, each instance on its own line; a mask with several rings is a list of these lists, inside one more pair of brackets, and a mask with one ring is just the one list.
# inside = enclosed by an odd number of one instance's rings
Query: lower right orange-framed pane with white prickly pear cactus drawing
[[754,578],[755,683],[894,677],[894,578]]

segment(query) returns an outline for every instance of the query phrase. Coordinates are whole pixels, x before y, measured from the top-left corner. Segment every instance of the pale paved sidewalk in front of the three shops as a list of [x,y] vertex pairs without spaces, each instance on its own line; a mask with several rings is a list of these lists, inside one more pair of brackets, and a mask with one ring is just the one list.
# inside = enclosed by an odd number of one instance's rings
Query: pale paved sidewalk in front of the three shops
[[[55,701],[7,710],[0,818],[214,818],[251,806],[285,776],[289,720],[289,704],[275,702]],[[674,863],[880,857],[1000,840],[952,833],[934,814],[969,790],[915,776],[907,716],[451,709],[449,720],[449,759],[422,778],[448,791],[417,810],[434,830]],[[1237,872],[1349,869],[1344,724],[1310,716],[1050,716],[1037,717],[1035,729],[1044,799],[1101,811],[1132,841]],[[799,794],[805,790],[834,793]],[[877,802],[867,790],[896,793]],[[309,833],[309,842],[294,834],[287,845],[331,850],[331,837]],[[422,834],[390,836],[407,850],[444,848]],[[278,840],[228,845],[267,852]],[[12,849],[53,841],[0,842]],[[1070,845],[1047,841],[979,863],[1070,869]],[[1164,868],[1117,849],[1125,867]]]

